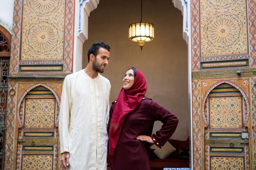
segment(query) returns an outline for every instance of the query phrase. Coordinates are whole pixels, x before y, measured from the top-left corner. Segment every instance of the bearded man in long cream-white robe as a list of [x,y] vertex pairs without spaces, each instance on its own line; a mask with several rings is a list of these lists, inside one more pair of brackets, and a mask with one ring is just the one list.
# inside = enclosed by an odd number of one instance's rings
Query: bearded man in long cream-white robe
[[94,42],[86,68],[64,79],[59,130],[65,169],[107,169],[110,82],[99,73],[109,57],[110,46]]

